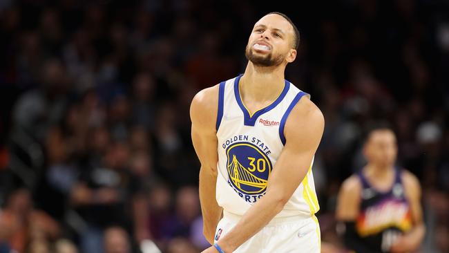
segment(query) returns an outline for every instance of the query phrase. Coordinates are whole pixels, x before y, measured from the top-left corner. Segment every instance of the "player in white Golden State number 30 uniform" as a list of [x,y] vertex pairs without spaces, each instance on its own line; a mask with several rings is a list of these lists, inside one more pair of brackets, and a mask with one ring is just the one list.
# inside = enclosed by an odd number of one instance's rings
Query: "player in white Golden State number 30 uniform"
[[284,79],[298,42],[292,21],[271,12],[251,31],[245,73],[193,98],[204,235],[213,244],[204,252],[319,252],[311,168],[324,119]]

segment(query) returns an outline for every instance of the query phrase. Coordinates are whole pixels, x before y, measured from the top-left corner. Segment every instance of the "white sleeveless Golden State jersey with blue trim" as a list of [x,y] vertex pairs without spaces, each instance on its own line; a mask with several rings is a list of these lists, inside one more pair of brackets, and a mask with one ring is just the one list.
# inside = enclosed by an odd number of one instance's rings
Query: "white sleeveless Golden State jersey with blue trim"
[[[269,174],[285,145],[287,117],[300,98],[307,95],[286,80],[282,93],[272,104],[250,115],[240,97],[241,76],[220,83],[216,124],[216,199],[225,211],[238,215],[245,214],[265,195]],[[307,169],[304,180],[276,217],[318,212],[312,164]]]

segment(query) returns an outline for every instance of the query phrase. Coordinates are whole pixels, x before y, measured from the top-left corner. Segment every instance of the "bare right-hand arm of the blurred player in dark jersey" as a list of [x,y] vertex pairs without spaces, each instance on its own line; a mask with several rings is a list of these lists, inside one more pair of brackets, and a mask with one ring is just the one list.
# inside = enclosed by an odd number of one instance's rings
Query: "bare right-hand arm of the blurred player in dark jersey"
[[403,184],[412,212],[413,228],[401,236],[391,248],[391,252],[410,252],[417,250],[421,245],[426,227],[423,223],[423,210],[421,208],[421,186],[416,176],[409,171],[403,171]]

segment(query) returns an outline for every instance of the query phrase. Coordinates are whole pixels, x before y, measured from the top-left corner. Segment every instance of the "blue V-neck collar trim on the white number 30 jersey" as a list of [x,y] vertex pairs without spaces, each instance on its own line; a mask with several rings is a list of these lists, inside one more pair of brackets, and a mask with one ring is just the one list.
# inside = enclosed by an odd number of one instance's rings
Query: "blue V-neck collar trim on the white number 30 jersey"
[[234,81],[234,95],[236,96],[238,106],[240,106],[240,109],[242,110],[243,122],[245,126],[254,127],[254,125],[256,124],[256,120],[257,118],[260,117],[260,115],[267,113],[268,111],[271,111],[271,109],[274,109],[274,107],[276,107],[284,99],[285,95],[287,95],[287,92],[289,91],[290,83],[287,80],[285,80],[283,91],[282,93],[280,93],[279,97],[276,100],[274,100],[273,103],[256,111],[253,115],[250,115],[249,111],[246,109],[245,105],[242,102],[242,98],[240,97],[240,90],[238,88],[240,77],[242,77],[242,75],[236,77],[236,80]]

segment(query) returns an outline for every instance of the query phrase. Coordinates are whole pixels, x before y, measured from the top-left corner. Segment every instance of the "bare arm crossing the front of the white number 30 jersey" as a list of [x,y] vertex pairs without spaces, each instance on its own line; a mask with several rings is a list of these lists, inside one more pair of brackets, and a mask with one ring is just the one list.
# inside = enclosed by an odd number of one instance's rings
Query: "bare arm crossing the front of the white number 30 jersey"
[[[267,194],[218,241],[224,252],[236,250],[283,209],[309,171],[323,129],[323,114],[307,97],[303,97],[285,124],[284,134],[287,142],[269,176]],[[215,251],[211,249],[204,252]]]

